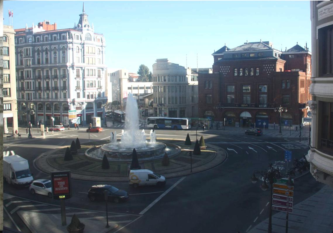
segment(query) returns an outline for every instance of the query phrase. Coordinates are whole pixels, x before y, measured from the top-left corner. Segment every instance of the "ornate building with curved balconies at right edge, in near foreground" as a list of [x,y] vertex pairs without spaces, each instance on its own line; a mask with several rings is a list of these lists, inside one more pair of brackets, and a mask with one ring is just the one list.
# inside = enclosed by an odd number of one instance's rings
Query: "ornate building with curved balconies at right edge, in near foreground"
[[333,188],[333,2],[311,1],[310,162],[313,177]]

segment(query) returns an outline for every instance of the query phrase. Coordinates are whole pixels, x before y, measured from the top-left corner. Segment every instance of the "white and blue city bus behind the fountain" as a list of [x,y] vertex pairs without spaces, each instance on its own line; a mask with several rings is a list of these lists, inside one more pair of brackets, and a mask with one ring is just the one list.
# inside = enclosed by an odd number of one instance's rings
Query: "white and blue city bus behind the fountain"
[[147,127],[161,129],[190,129],[191,119],[174,117],[148,117]]

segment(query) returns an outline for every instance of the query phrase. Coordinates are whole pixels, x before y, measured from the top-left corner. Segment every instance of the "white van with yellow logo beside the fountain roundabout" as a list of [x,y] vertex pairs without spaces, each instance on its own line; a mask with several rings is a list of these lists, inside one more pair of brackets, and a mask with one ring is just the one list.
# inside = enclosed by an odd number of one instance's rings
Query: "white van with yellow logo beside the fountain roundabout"
[[166,184],[166,178],[148,169],[131,170],[129,184],[133,185],[135,188],[142,185],[164,186]]

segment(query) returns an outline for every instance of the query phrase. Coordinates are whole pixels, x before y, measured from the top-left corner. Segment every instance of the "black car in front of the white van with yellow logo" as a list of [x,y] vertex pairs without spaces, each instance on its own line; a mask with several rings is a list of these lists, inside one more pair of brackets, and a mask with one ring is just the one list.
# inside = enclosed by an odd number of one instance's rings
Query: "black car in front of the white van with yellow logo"
[[88,198],[91,201],[95,200],[104,200],[103,191],[108,190],[108,200],[115,203],[120,201],[126,201],[129,198],[129,195],[126,191],[120,190],[112,185],[100,184],[93,185],[88,191]]

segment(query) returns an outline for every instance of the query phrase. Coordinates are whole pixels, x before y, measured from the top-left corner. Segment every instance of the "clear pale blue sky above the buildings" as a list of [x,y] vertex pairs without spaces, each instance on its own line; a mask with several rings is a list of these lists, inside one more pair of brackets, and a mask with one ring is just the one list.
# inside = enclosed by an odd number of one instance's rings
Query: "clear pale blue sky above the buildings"
[[[85,1],[95,32],[106,40],[106,65],[136,73],[152,71],[159,58],[181,66],[212,67],[211,54],[226,44],[273,42],[285,50],[298,44],[311,51],[309,1]],[[50,20],[74,27],[83,1],[4,1],[4,24],[13,10],[14,29]]]

